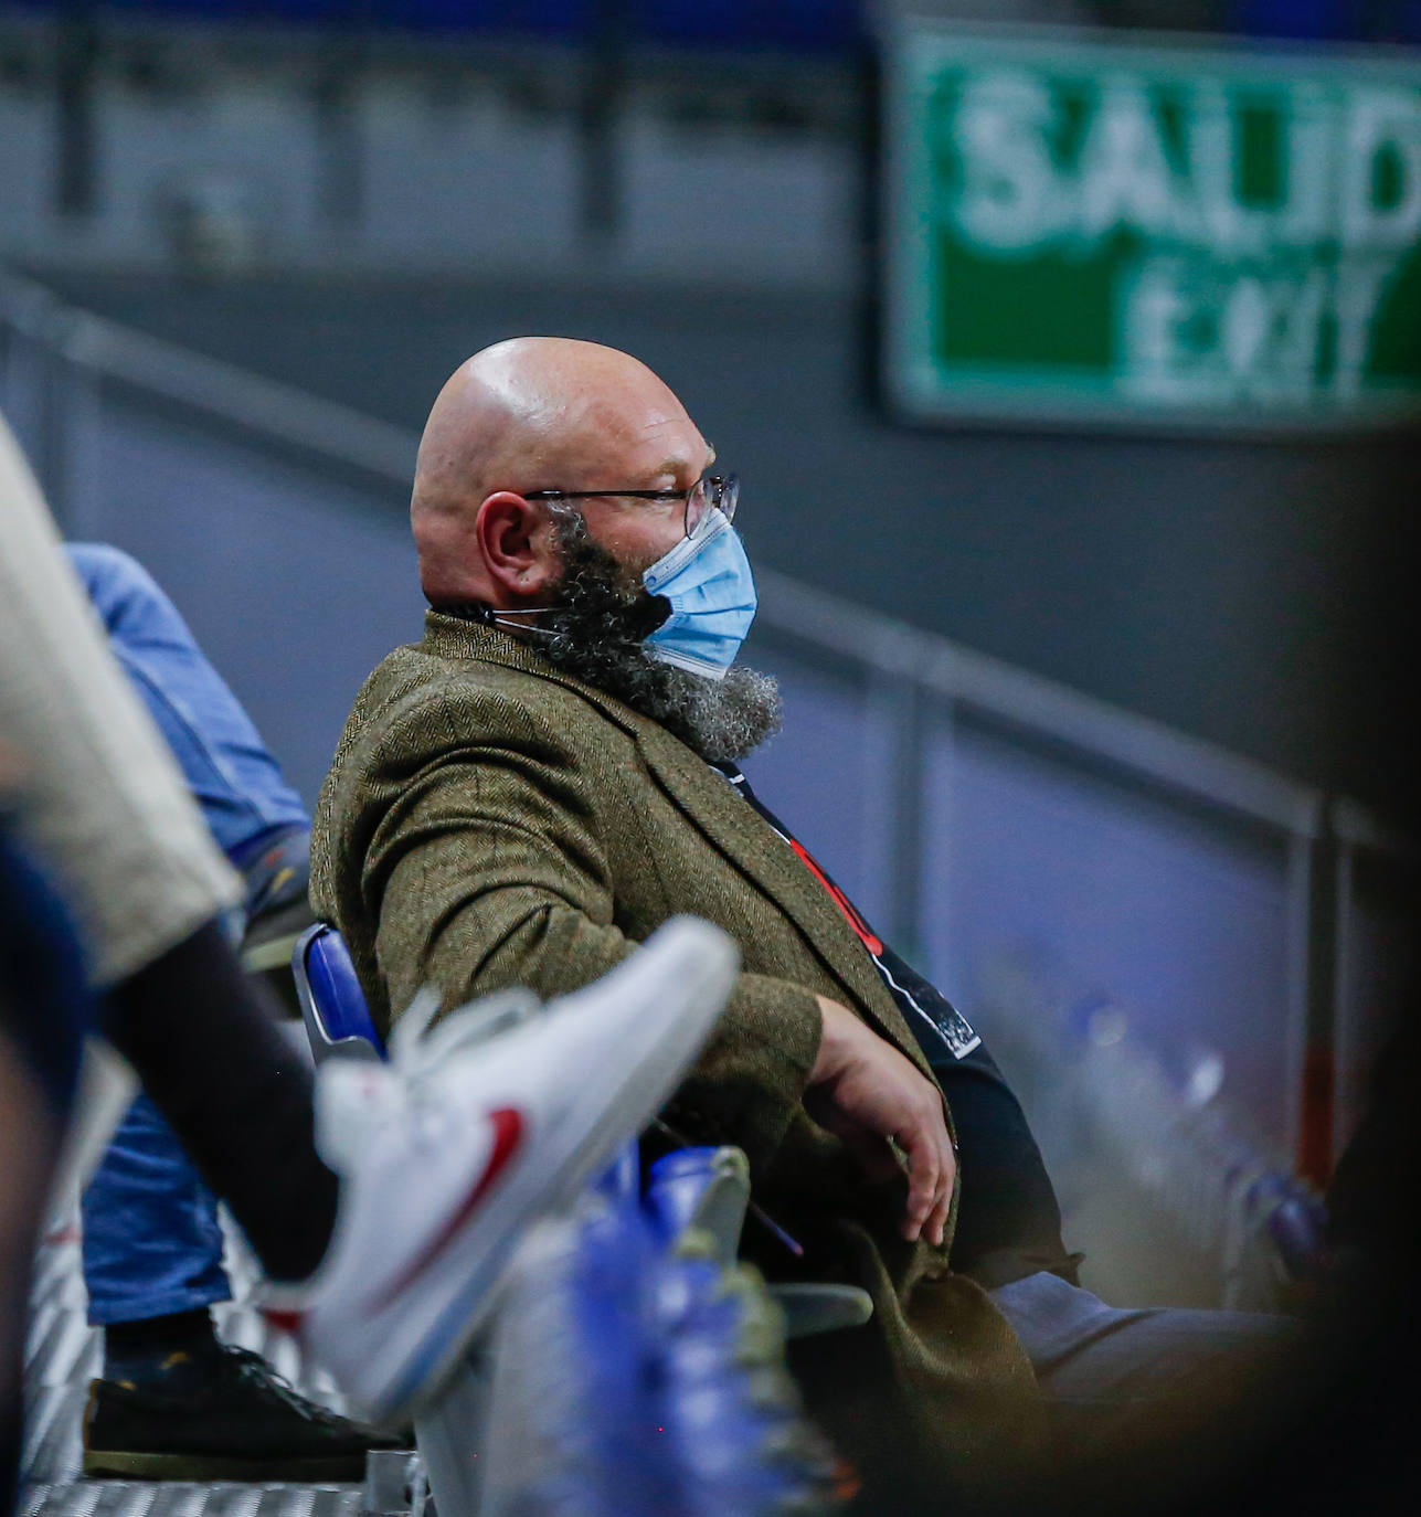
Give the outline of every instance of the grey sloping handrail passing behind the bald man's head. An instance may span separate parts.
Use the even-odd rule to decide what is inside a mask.
[[[70,306],[9,273],[0,273],[0,322],[91,375],[408,484],[419,440],[406,428]],[[1321,830],[1324,796],[1312,786],[789,575],[760,569],[757,579],[763,623],[781,636],[1291,836]],[[1365,812],[1347,801],[1345,815],[1356,822]]]

